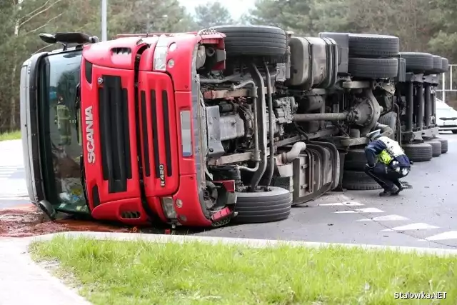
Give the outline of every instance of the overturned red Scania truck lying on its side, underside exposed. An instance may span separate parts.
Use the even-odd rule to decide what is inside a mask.
[[[286,219],[344,181],[378,188],[344,158],[357,164],[375,128],[401,136],[405,62],[398,38],[351,35],[273,26],[103,42],[41,34],[64,48],[21,70],[31,201],[51,215],[222,226]],[[433,124],[416,132],[437,133]]]

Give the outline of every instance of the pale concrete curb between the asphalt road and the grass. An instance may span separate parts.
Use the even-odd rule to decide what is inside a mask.
[[[55,236],[66,237],[86,237],[99,240],[118,240],[118,241],[150,241],[157,243],[177,242],[184,243],[189,241],[200,241],[208,244],[231,244],[251,246],[254,248],[266,248],[271,246],[299,246],[308,248],[325,248],[342,246],[346,248],[361,248],[366,250],[384,250],[398,251],[401,253],[416,253],[416,254],[433,254],[438,256],[455,256],[457,249],[440,249],[440,248],[425,248],[425,247],[407,247],[407,246],[380,246],[370,244],[338,244],[338,243],[319,243],[308,241],[281,241],[271,239],[237,239],[229,237],[212,237],[212,236],[184,236],[184,235],[162,235],[162,234],[132,234],[132,233],[111,233],[111,232],[59,232],[46,234],[41,236],[26,237],[31,241],[48,241]],[[1,239],[0,239],[1,240]]]

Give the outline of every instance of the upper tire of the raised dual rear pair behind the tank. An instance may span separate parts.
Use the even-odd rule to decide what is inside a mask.
[[[399,44],[396,36],[349,34],[349,56],[397,56]]]

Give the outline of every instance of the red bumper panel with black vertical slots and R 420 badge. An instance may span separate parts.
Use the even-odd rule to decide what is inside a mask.
[[[146,197],[174,194],[179,185],[179,145],[173,84],[168,75],[140,71],[139,125]]]

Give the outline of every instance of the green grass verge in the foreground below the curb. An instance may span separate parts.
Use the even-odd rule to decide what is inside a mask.
[[[456,304],[457,258],[332,247],[154,244],[56,237],[31,245],[58,260],[95,305]],[[446,299],[395,299],[396,292]],[[434,302],[434,303],[433,303]]]

